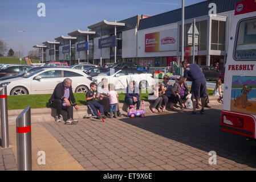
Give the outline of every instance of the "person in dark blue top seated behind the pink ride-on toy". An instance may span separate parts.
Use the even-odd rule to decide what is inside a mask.
[[[124,102],[129,105],[129,109],[131,109],[131,105],[136,104],[136,109],[140,109],[140,92],[139,88],[135,85],[135,81],[129,82],[129,85],[126,88],[126,94],[124,98]]]

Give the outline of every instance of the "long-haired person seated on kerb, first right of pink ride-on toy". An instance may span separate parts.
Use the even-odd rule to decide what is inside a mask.
[[[151,108],[151,111],[153,113],[156,113],[157,109],[159,111],[159,113],[161,113],[161,109],[160,106],[162,104],[162,84],[161,82],[159,82],[158,84],[156,84],[155,88],[153,89],[153,92],[149,94],[148,99],[153,101],[153,107]]]

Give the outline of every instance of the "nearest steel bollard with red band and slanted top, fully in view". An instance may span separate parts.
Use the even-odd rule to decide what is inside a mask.
[[[32,171],[31,111],[27,106],[16,118],[19,171]]]

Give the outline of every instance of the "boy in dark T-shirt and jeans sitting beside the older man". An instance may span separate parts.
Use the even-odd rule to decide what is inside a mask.
[[[92,110],[92,113],[94,115],[97,116],[98,119],[101,119],[101,118],[106,118],[105,115],[104,115],[104,110],[103,110],[103,106],[101,106],[99,104],[99,102],[97,102],[95,99],[96,97],[99,99],[100,96],[96,95],[96,88],[97,88],[97,85],[95,82],[91,82],[90,84],[90,90],[88,90],[88,92],[86,93],[86,100],[87,100],[87,104],[88,106],[91,108]],[[99,109],[99,113],[100,115],[97,113],[97,110],[96,108],[97,107]]]

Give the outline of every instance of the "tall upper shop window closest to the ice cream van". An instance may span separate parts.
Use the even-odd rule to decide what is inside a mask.
[[[226,22],[212,20],[212,50],[225,51]]]

